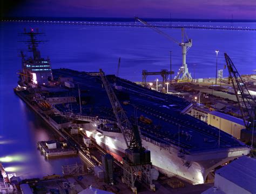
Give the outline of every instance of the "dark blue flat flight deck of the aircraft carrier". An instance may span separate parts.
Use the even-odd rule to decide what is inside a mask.
[[[72,76],[73,81],[79,83],[84,116],[116,121],[99,76],[90,76],[85,72],[70,69],[54,69],[53,75],[56,78],[60,75]],[[114,75],[107,76],[107,79],[112,85],[122,86],[122,90],[114,90],[121,104],[129,101],[129,104],[122,106],[131,122],[134,122],[134,110],[137,110],[137,118],[143,115],[152,121],[151,124],[139,121],[138,125],[143,136],[160,145],[180,146],[190,153],[246,147],[244,143],[223,131],[220,132],[219,147],[218,128],[183,113],[191,104],[183,98],[144,88]],[[69,95],[78,97],[77,86],[69,91]],[[80,113],[78,103],[58,104],[55,107],[64,113]]]

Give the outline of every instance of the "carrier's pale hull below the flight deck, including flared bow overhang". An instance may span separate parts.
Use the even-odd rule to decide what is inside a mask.
[[[106,152],[116,160],[122,161],[126,143],[121,133],[105,132],[89,124],[85,127],[85,133],[92,138]],[[166,176],[178,176],[192,184],[206,182],[207,175],[214,168],[233,160],[241,155],[248,154],[248,149],[233,152],[199,153],[197,155],[179,156],[175,147],[164,148],[156,145],[150,139],[142,140],[143,146],[151,152],[153,166]]]

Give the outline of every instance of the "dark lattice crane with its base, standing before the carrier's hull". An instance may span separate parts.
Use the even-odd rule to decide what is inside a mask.
[[[133,192],[137,193],[137,188],[134,186],[134,183],[136,178],[139,177],[141,181],[149,185],[150,188],[155,191],[151,177],[152,164],[150,151],[142,146],[138,126],[130,123],[130,120],[127,118],[123,107],[116,94],[114,94],[114,90],[102,69],[99,70],[99,74],[127,147],[127,149],[125,149],[125,157],[123,158],[124,176],[122,177],[122,181],[130,186]]]

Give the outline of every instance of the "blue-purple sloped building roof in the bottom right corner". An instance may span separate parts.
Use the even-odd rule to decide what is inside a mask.
[[[251,193],[256,193],[256,159],[242,156],[217,170],[216,174]]]

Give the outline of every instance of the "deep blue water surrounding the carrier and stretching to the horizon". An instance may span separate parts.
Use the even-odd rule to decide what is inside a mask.
[[[193,23],[196,25],[197,23]],[[181,64],[181,48],[145,27],[106,27],[82,25],[46,25],[0,23],[0,162],[9,172],[23,178],[60,174],[61,165],[79,162],[78,157],[45,160],[36,148],[36,142],[53,138],[44,122],[13,92],[17,85],[16,72],[21,69],[19,50],[26,50],[24,37],[18,35],[23,28],[36,28],[45,32],[40,45],[42,56],[49,56],[53,68],[71,68],[115,74],[121,57],[120,77],[131,81],[142,80],[142,70],[159,71],[170,68],[169,51],[172,51],[172,69],[177,73]],[[189,23],[188,23],[189,25]],[[200,25],[230,26],[230,23],[200,23]],[[233,26],[255,27],[255,23],[238,23]],[[181,32],[164,29],[180,40]],[[193,46],[187,54],[188,68],[196,77],[215,76],[215,49],[218,49],[218,69],[223,69],[227,52],[240,74],[252,74],[256,69],[256,32],[223,30],[186,30]],[[194,66],[192,66],[195,64]],[[192,68],[193,67],[193,68]],[[224,70],[227,76],[227,70]],[[148,77],[153,80],[157,77]],[[158,77],[160,78],[160,77]]]

